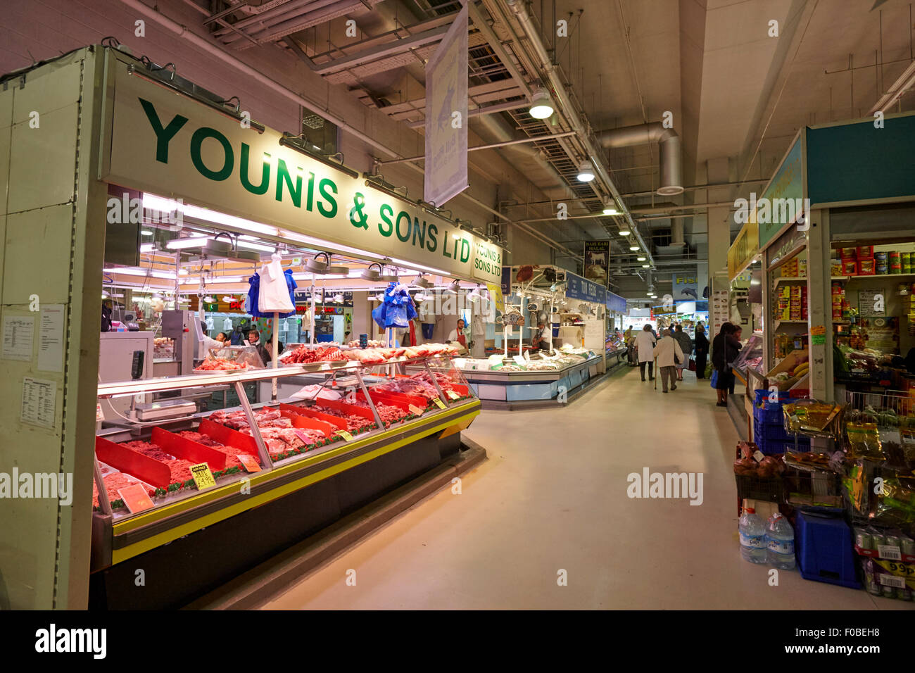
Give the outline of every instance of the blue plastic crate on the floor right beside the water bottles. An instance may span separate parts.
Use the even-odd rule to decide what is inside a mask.
[[[799,512],[794,546],[804,580],[861,588],[855,569],[852,530],[843,519]]]

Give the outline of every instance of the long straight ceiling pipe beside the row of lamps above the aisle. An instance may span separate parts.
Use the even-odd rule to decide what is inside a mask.
[[[608,168],[604,165],[604,152],[602,149],[598,150],[591,141],[591,135],[588,133],[587,128],[582,125],[582,121],[576,113],[576,107],[572,104],[568,93],[565,91],[565,83],[559,76],[558,69],[550,60],[550,56],[544,47],[544,42],[533,26],[533,21],[528,14],[527,8],[523,5],[522,0],[504,0],[504,2],[509,6],[511,12],[521,25],[524,37],[527,38],[527,44],[531,45],[536,52],[537,60],[540,61],[540,67],[546,72],[554,101],[558,103],[559,107],[564,111],[564,116],[568,120],[569,125],[577,132],[579,142],[581,142],[586,149],[587,157],[585,158],[587,158],[596,168],[597,177],[607,186],[608,190],[613,195],[613,198],[619,203],[619,207],[623,209],[623,216],[630,226],[630,231],[646,251],[648,264],[653,264],[653,260],[651,259],[651,248],[642,240],[635,223],[632,222],[632,216],[626,208],[626,204],[623,203],[622,198],[619,196],[619,190],[617,190],[616,185],[613,183],[613,179],[610,178]],[[565,138],[561,138],[557,140],[557,142],[562,143],[563,140],[565,140]],[[571,156],[574,157],[575,155]]]

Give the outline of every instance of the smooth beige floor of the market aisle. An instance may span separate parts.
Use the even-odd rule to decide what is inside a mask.
[[[737,433],[692,374],[662,395],[638,370],[566,408],[487,411],[489,460],[311,573],[267,609],[904,608],[740,559]],[[704,499],[630,499],[627,475],[702,472]],[[356,570],[356,585],[346,583]],[[557,572],[567,571],[567,586]]]

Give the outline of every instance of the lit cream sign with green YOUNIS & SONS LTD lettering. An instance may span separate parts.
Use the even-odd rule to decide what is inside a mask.
[[[114,56],[109,73],[100,179],[248,218],[255,228],[272,224],[449,276],[501,281],[500,247],[281,145],[278,131],[243,128],[132,75],[128,59]]]

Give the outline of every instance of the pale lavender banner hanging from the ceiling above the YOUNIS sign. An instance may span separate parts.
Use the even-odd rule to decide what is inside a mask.
[[[438,207],[467,181],[467,6],[425,64],[425,184],[423,198]]]

